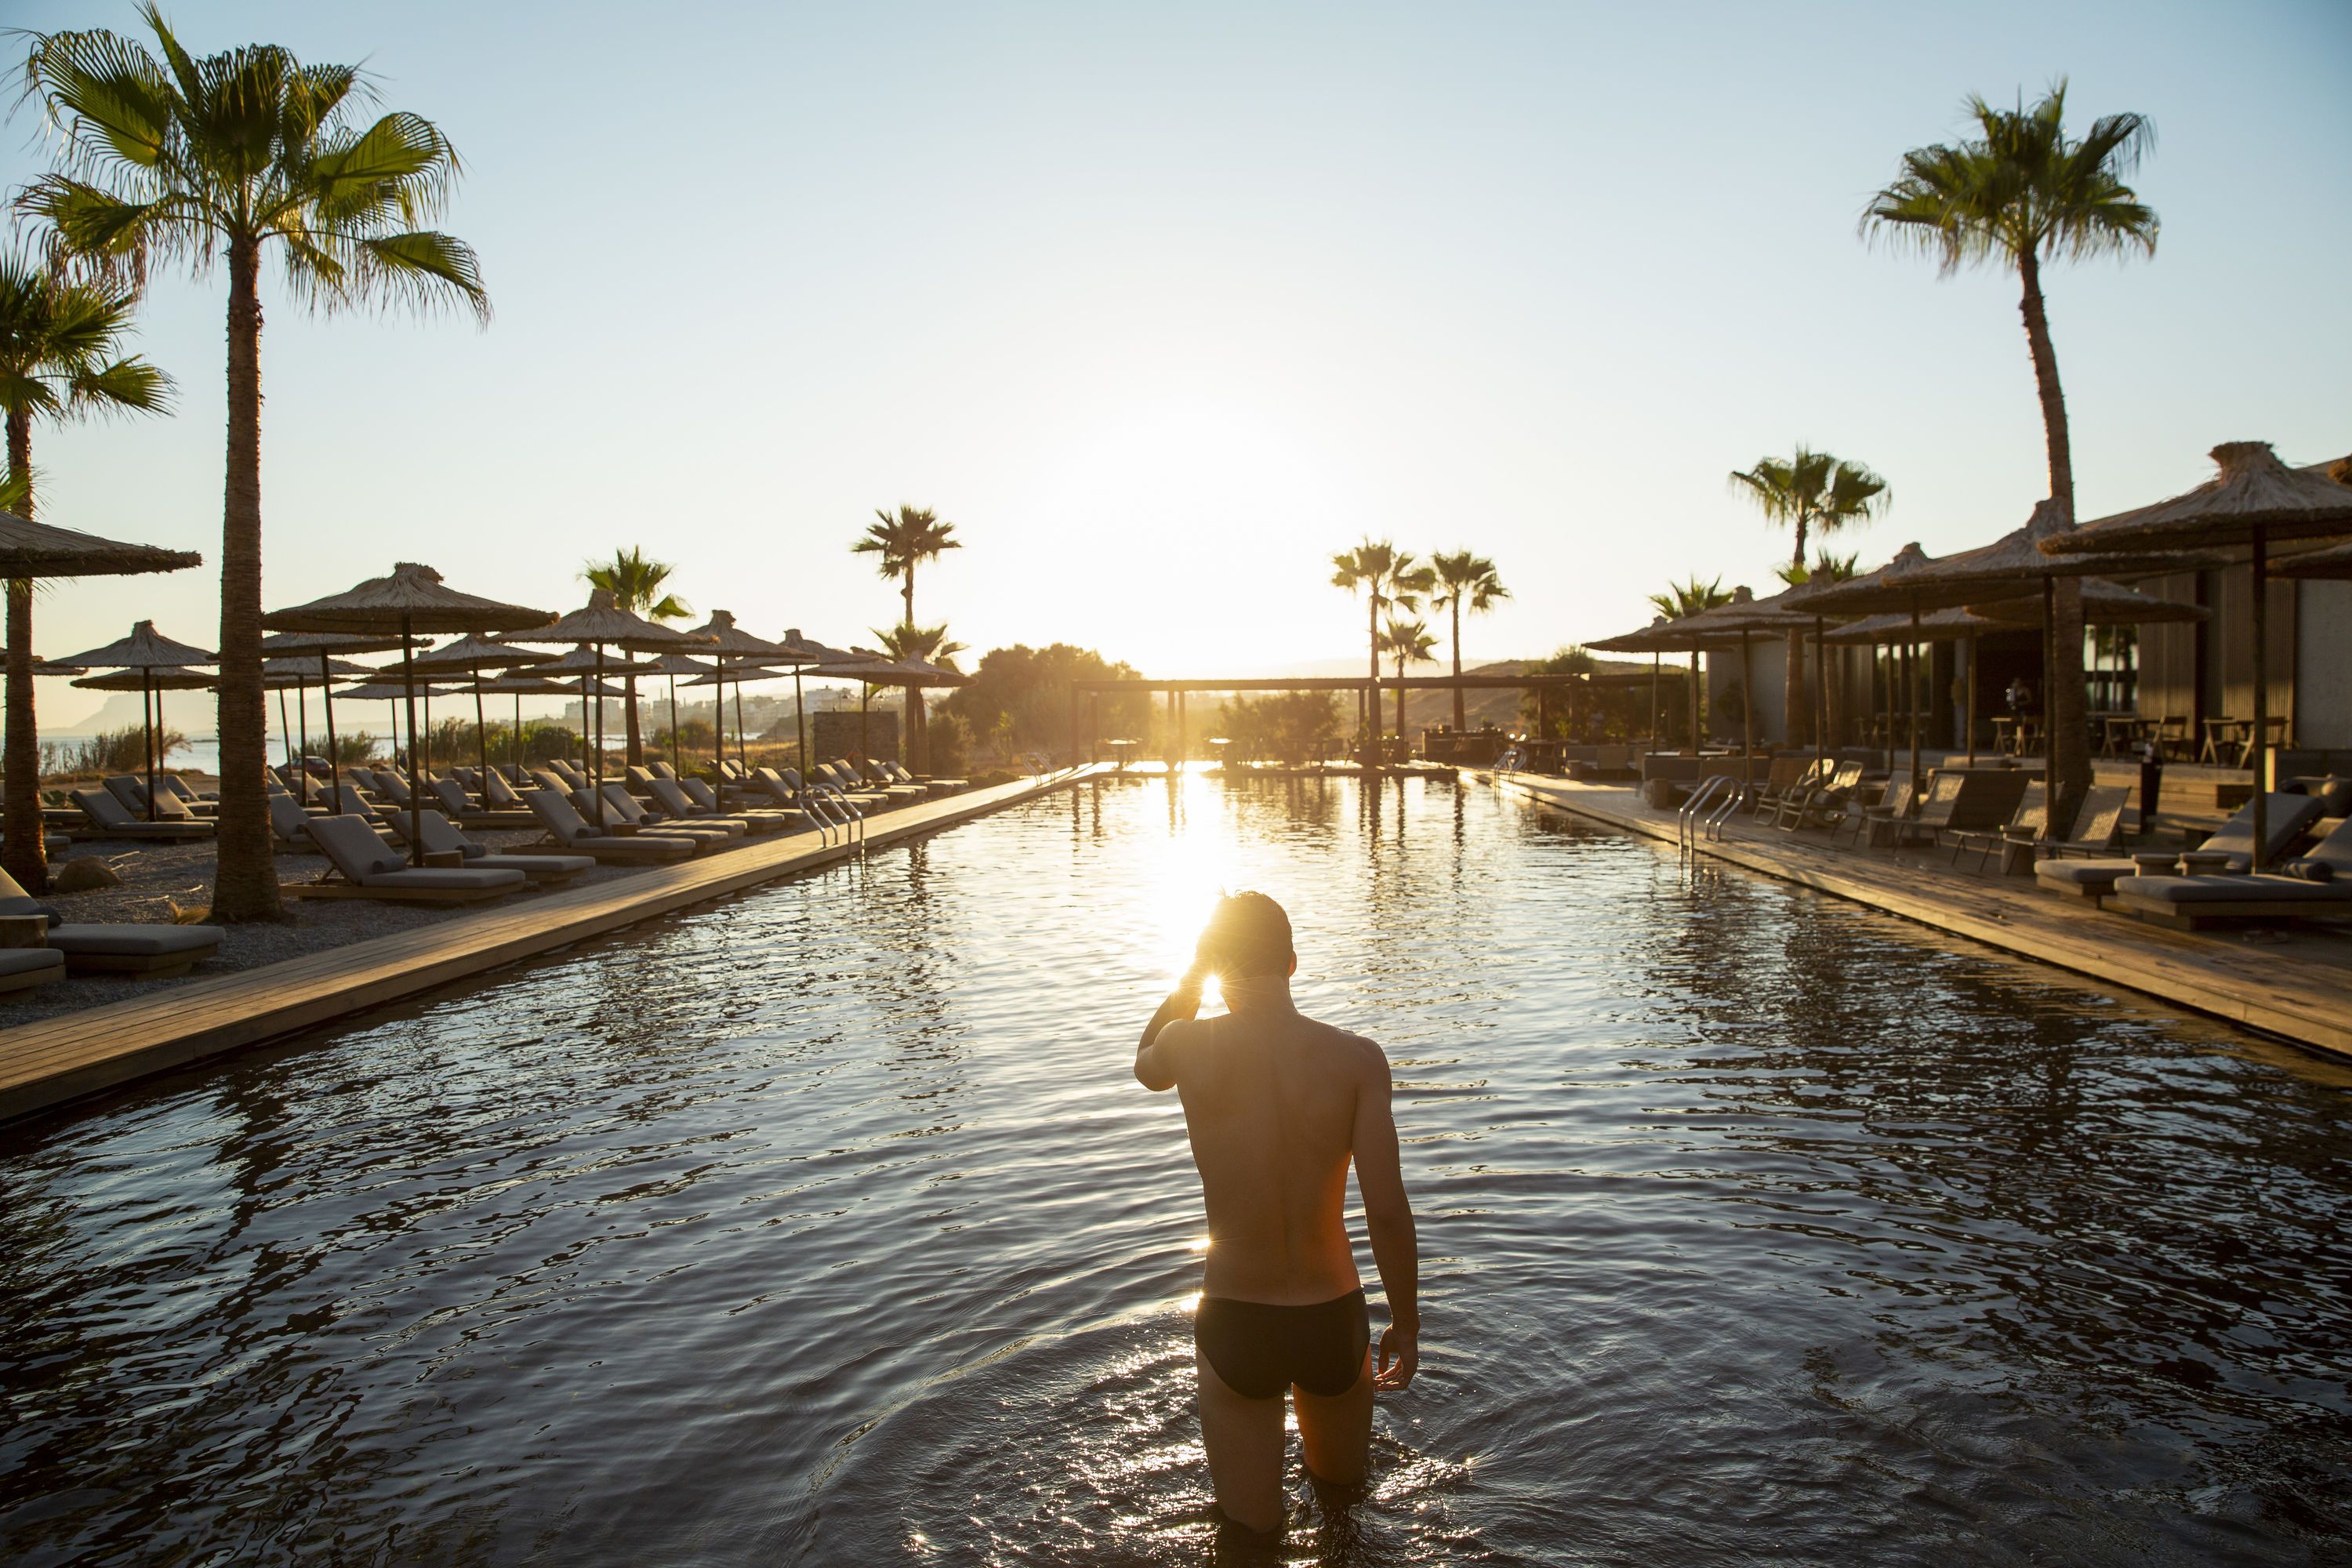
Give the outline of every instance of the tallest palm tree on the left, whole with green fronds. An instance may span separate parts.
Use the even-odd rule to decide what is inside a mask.
[[[282,919],[261,792],[261,261],[315,308],[461,303],[489,317],[468,244],[430,228],[459,174],[430,120],[360,122],[355,66],[275,45],[191,56],[153,0],[158,54],[103,28],[40,33],[28,92],[59,129],[59,167],[19,207],[61,254],[143,277],[228,259],[228,475],[221,508],[221,813],[212,914]]]

